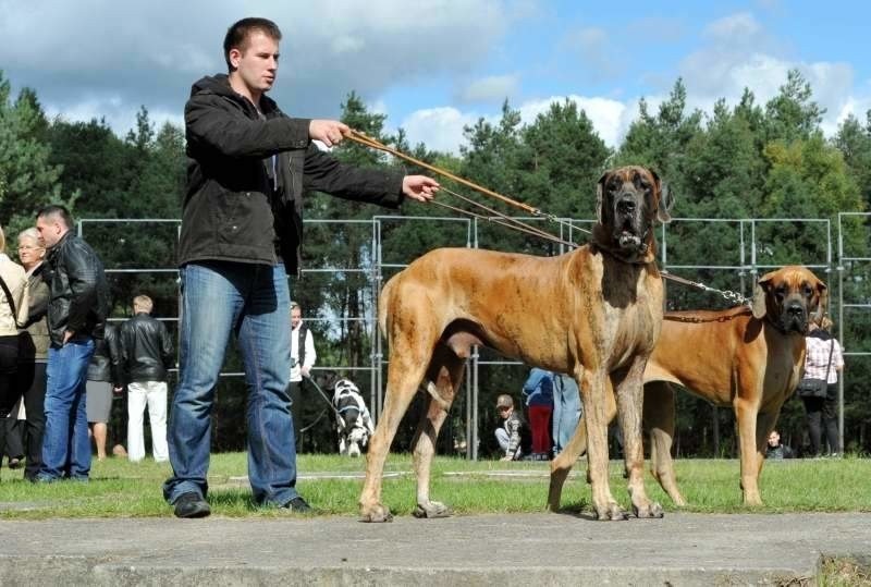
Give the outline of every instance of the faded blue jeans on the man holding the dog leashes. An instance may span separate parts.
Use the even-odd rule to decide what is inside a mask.
[[[296,443],[287,409],[291,294],[284,266],[230,261],[181,270],[179,388],[167,439],[173,476],[163,497],[206,497],[214,389],[231,332],[238,339],[248,388],[248,480],[258,503],[297,497]]]

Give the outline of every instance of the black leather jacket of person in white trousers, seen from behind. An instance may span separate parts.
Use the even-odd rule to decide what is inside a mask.
[[[165,381],[175,363],[167,326],[144,311],[121,325],[121,348],[126,382]]]

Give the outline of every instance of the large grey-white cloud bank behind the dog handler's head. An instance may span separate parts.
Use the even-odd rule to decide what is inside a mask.
[[[0,0],[0,63],[16,88],[33,87],[47,109],[69,117],[89,111],[93,96],[107,93],[132,114],[140,105],[181,112],[198,76],[225,71],[228,26],[260,14],[284,35],[275,99],[290,113],[335,117],[351,90],[369,99],[428,76],[470,75],[504,35],[512,19],[505,7],[505,0],[322,0],[304,10],[268,0]]]

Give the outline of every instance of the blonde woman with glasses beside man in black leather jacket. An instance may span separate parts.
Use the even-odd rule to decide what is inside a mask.
[[[39,232],[29,228],[19,234],[19,258],[27,277],[29,313],[26,330],[19,338],[19,372],[15,377],[19,393],[24,396],[26,415],[26,462],[24,478],[36,480],[42,464],[42,435],[46,430],[46,364],[48,362],[49,290],[44,279],[46,248],[39,242]]]

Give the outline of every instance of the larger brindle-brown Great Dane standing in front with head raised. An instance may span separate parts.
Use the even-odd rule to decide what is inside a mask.
[[[369,444],[359,501],[364,521],[391,518],[381,504],[384,460],[421,383],[429,405],[415,437],[415,515],[447,514],[443,504],[430,500],[430,462],[473,344],[574,375],[592,431],[596,514],[622,519],[625,514],[608,482],[610,378],[626,439],[633,509],[639,517],[662,515],[645,493],[640,412],[641,377],[662,322],[653,221],[667,221],[668,206],[667,192],[653,172],[621,168],[599,180],[599,222],[590,245],[560,257],[437,249],[390,280],[379,301],[381,330],[390,344],[387,399]]]

